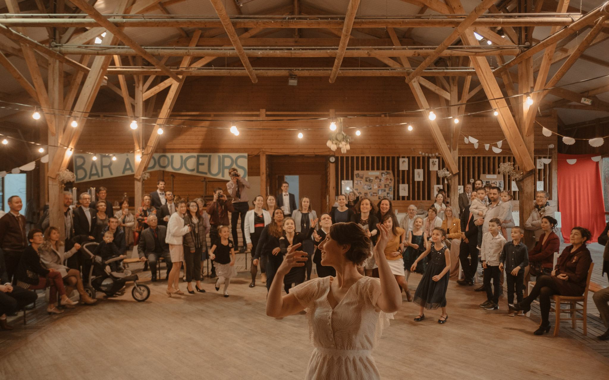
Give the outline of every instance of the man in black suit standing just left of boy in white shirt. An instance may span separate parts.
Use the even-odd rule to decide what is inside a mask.
[[[476,193],[473,193],[473,197],[475,196]],[[473,214],[469,207],[465,207],[461,215],[461,244],[459,246],[459,261],[461,261],[461,267],[463,268],[463,280],[457,281],[459,285],[474,285],[474,275],[476,275],[478,269],[477,240],[478,226],[474,224]],[[468,256],[471,257],[470,261],[467,260]]]

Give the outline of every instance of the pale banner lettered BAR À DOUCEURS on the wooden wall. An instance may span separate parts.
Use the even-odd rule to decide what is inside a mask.
[[[116,157],[113,160],[112,157]],[[74,159],[75,182],[94,181],[135,174],[133,153],[76,154]],[[96,160],[93,157],[97,157]],[[147,171],[166,170],[230,180],[228,170],[236,167],[247,178],[247,154],[245,153],[155,153]]]

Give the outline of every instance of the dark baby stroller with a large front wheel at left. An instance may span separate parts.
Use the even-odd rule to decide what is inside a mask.
[[[90,255],[93,260],[89,273],[89,282],[85,285],[85,291],[95,298],[95,292],[103,292],[107,297],[117,297],[125,294],[125,283],[133,281],[134,285],[131,291],[133,299],[137,302],[144,302],[150,297],[150,288],[147,285],[138,284],[138,275],[131,274],[131,271],[125,269],[124,272],[111,272],[108,264],[114,261],[122,260],[120,257],[113,257],[103,261],[100,256],[92,253],[99,243],[85,243],[82,246],[83,252]]]

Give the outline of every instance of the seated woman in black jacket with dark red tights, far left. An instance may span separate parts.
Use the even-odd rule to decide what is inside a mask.
[[[42,231],[32,229],[27,234],[27,240],[30,241],[30,246],[24,250],[19,261],[19,266],[15,277],[17,285],[28,290],[44,289],[49,286],[49,306],[46,308],[49,314],[61,314],[63,310],[55,307],[57,303],[57,293],[61,297],[61,305],[65,308],[74,308],[72,302],[66,294],[66,288],[63,286],[62,274],[55,271],[54,268],[46,269],[40,264],[40,256],[38,256],[38,247],[43,243],[44,237]],[[76,244],[78,249],[80,246]]]

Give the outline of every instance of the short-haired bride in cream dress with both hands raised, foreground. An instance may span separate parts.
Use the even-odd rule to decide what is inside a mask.
[[[306,252],[290,247],[269,289],[266,313],[286,317],[306,309],[309,338],[314,345],[306,379],[380,379],[371,350],[383,328],[400,309],[402,297],[384,249],[387,228],[380,232],[373,254],[379,277],[362,276],[357,267],[370,255],[370,240],[356,223],[336,223],[319,244],[322,265],[333,266],[336,277],[313,278],[281,295],[290,268],[305,265]]]

